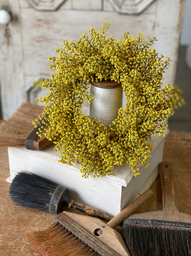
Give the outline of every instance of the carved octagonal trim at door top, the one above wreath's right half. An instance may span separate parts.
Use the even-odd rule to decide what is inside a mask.
[[[153,1],[154,0],[109,0],[116,12],[124,14],[139,14]]]

